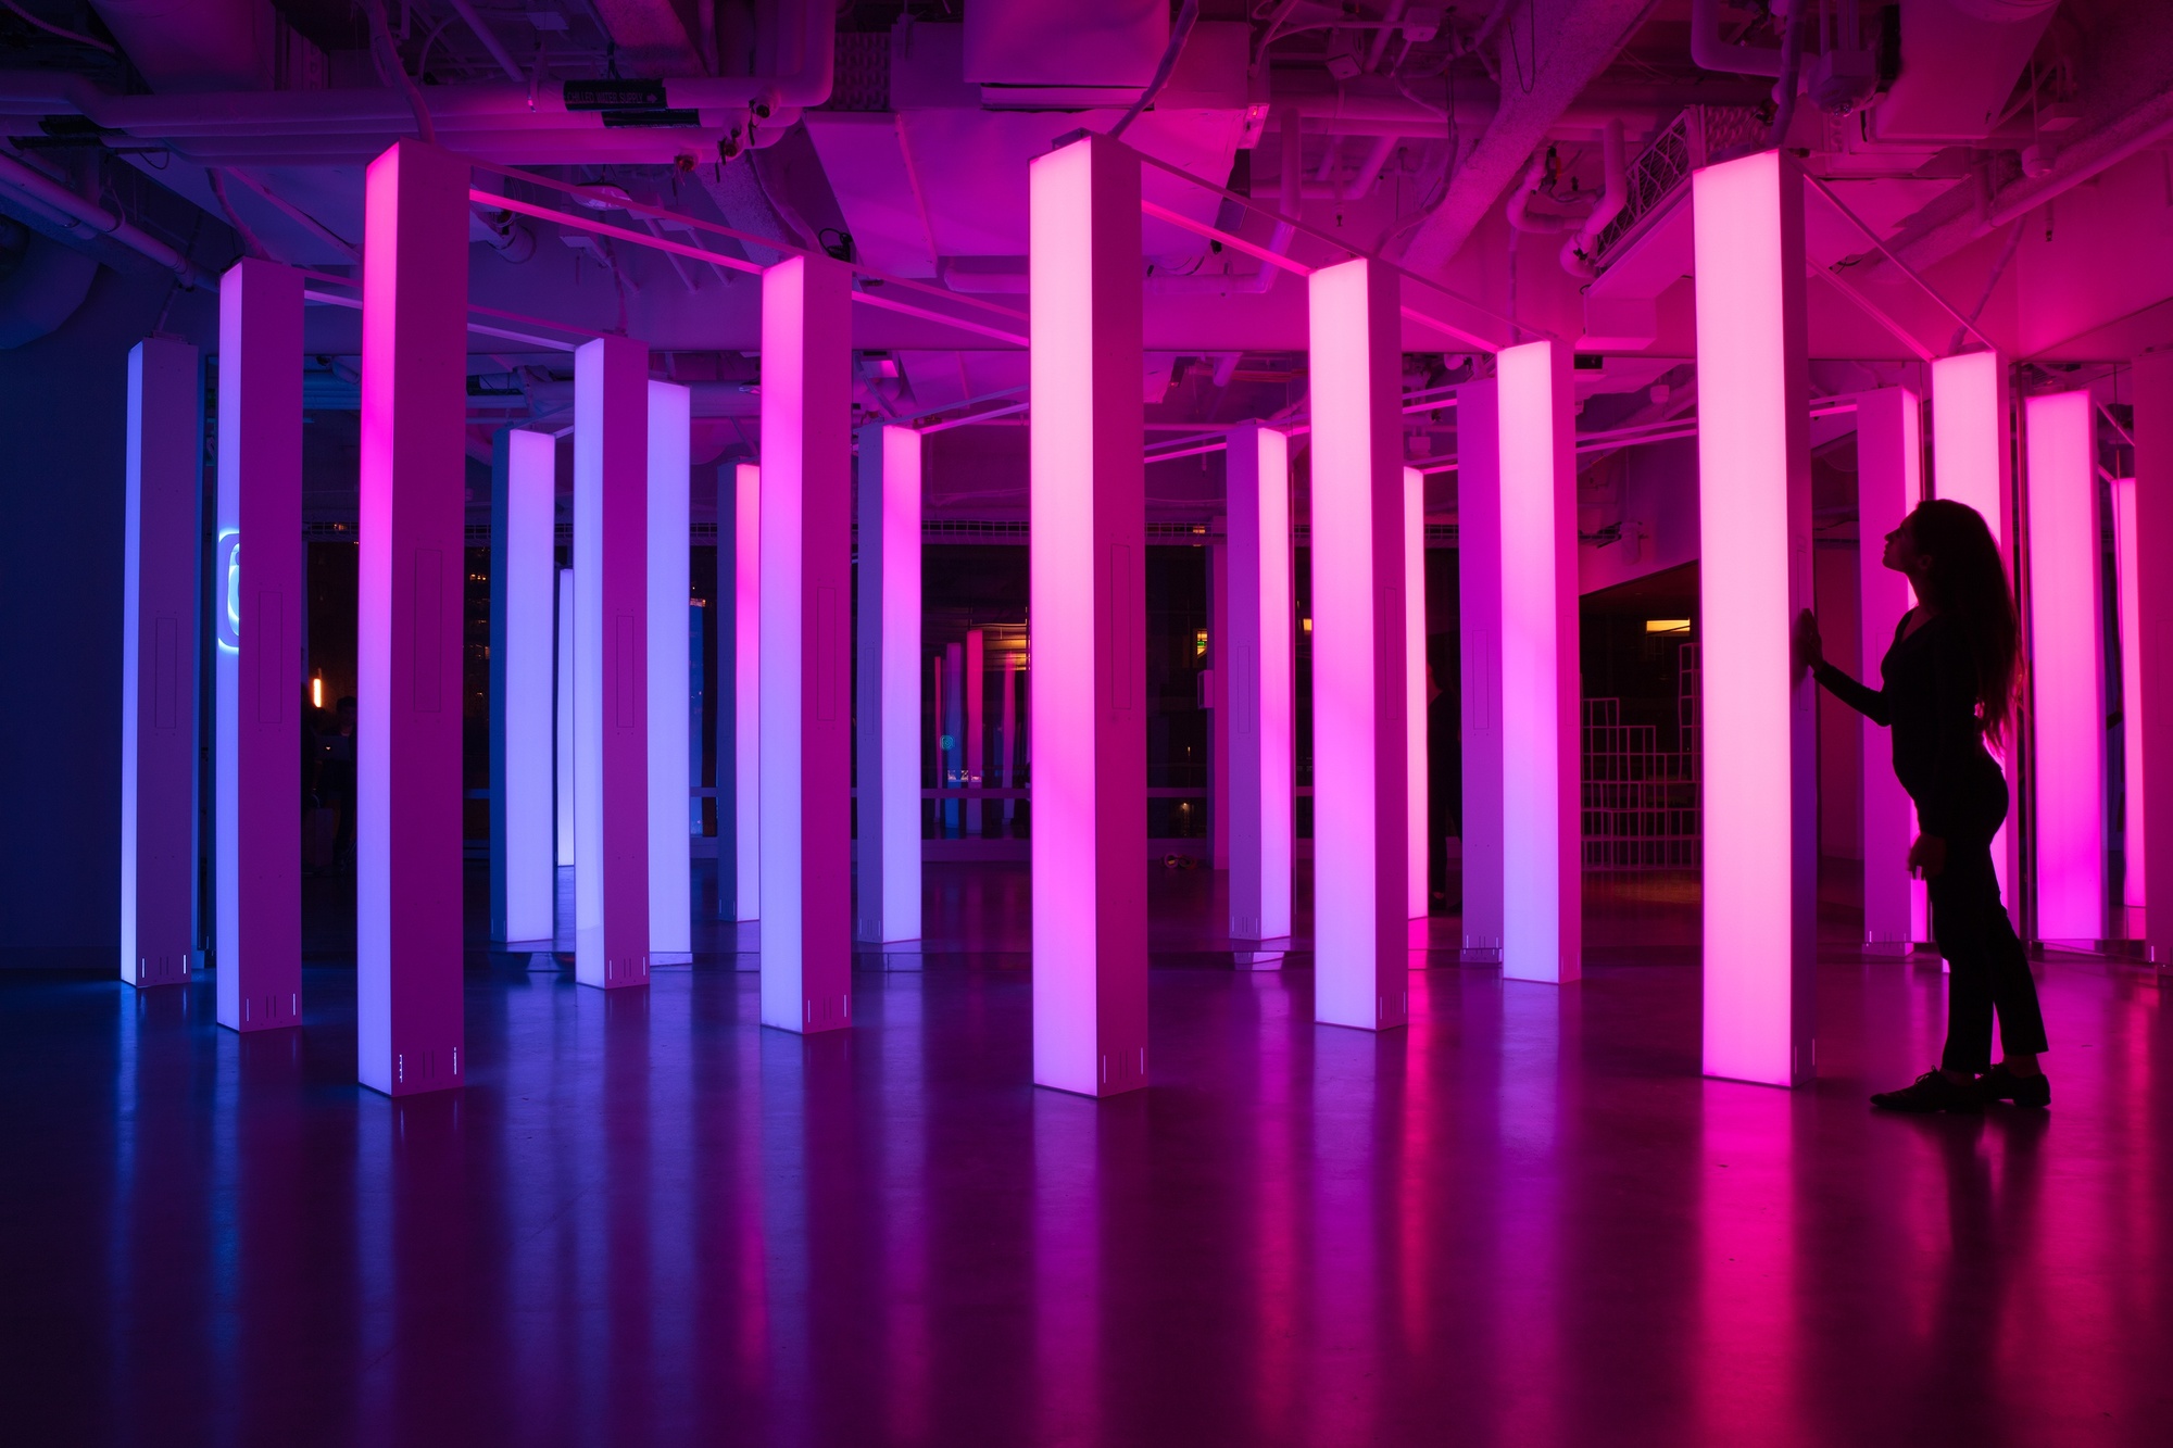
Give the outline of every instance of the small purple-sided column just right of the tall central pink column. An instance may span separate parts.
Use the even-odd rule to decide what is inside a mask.
[[[1230,428],[1228,596],[1215,672],[1230,717],[1230,935],[1291,933],[1291,439]],[[1280,965],[1280,952],[1247,952]]]

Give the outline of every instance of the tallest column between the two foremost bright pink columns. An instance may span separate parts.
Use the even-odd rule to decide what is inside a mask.
[[[1310,276],[1312,1015],[1408,1015],[1410,715],[1397,280],[1373,261]]]

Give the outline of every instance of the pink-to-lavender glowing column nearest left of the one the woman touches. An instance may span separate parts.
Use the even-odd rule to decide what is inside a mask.
[[[1569,348],[1495,359],[1502,467],[1502,974],[1569,983],[1584,959],[1578,702],[1578,439]]]

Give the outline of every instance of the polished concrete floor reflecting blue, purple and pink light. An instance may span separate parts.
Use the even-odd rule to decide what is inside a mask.
[[[2173,1441],[2153,972],[2040,965],[2053,1111],[1888,1118],[1936,961],[1836,948],[1786,1094],[1697,1074],[1693,881],[1373,1037],[1158,876],[1154,1087],[1089,1102],[1028,1085],[1023,889],[932,870],[815,1039],[730,928],[613,996],[476,952],[472,1083],[400,1104],[350,965],[248,1039],[0,978],[0,1441]]]

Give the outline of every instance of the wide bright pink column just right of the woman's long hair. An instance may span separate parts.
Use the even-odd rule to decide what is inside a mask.
[[[2097,591],[2097,407],[2023,404],[2030,465],[2030,731],[2036,757],[2036,935],[2106,931],[2106,611]]]

